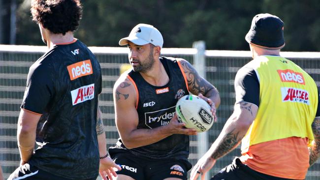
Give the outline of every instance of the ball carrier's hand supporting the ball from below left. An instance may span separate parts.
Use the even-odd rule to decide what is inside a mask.
[[[194,128],[186,128],[184,122],[179,122],[177,115],[174,114],[172,119],[167,124],[169,132],[172,134],[186,134],[186,135],[196,135],[197,132]]]

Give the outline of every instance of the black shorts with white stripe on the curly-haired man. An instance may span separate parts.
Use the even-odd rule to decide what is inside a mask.
[[[54,172],[53,172],[54,173]],[[30,164],[24,164],[18,167],[7,180],[70,180],[61,176],[57,176],[46,171],[40,170]],[[96,180],[96,178],[86,179]]]

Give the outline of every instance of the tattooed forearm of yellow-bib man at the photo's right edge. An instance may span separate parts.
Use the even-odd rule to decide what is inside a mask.
[[[315,140],[313,141],[312,146],[309,148],[310,166],[312,166],[320,157],[320,117],[316,117],[315,120],[312,122],[312,131],[313,131]]]

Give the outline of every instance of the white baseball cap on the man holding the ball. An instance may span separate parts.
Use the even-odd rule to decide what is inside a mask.
[[[147,24],[138,24],[135,26],[128,37],[122,38],[119,41],[120,46],[128,44],[128,41],[136,45],[153,44],[162,48],[163,38],[159,30]]]

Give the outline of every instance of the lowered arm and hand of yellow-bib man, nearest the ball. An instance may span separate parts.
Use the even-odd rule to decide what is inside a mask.
[[[191,171],[191,180],[202,177],[213,167],[216,160],[235,149],[246,135],[256,118],[258,107],[253,103],[239,102],[234,105],[234,112],[224,124],[224,128],[211,148],[198,160]]]

